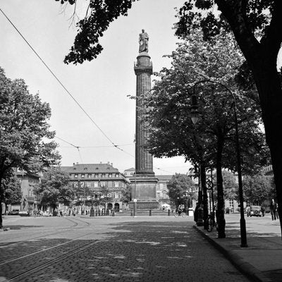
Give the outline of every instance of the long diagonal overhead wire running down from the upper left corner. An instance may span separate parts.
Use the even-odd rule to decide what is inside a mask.
[[[3,13],[4,17],[8,20],[9,23],[11,23],[11,25],[13,26],[13,28],[15,28],[15,30],[18,32],[18,34],[20,35],[20,37],[23,38],[23,40],[25,41],[25,43],[28,45],[28,47],[30,47],[30,49],[32,49],[32,51],[35,53],[35,55],[37,56],[37,58],[44,64],[44,66],[47,68],[47,70],[51,73],[51,75],[53,75],[53,77],[57,80],[57,82],[59,82],[59,84],[61,85],[61,87],[63,87],[63,89],[68,93],[68,95],[73,99],[73,101],[75,102],[75,104],[77,104],[80,109],[85,113],[85,115],[90,119],[90,121],[92,121],[92,123],[99,129],[99,131],[104,135],[104,137],[106,137],[107,140],[109,140],[109,142],[111,142],[111,144],[116,147],[116,149],[121,150],[122,152],[124,152],[125,154],[129,154],[130,156],[132,156],[132,154],[124,151],[123,149],[121,149],[120,147],[118,147],[118,145],[114,144],[114,142],[106,135],[106,133],[104,133],[104,131],[102,130],[102,128],[99,127],[99,125],[97,125],[97,123],[94,122],[94,120],[92,119],[92,117],[87,113],[87,111],[85,111],[85,109],[82,108],[82,106],[78,103],[78,101],[75,99],[75,97],[73,97],[73,95],[71,94],[71,92],[68,91],[68,89],[63,85],[63,83],[61,82],[61,80],[59,80],[59,78],[57,78],[57,76],[55,75],[55,73],[53,71],[51,71],[51,68],[49,68],[49,66],[47,66],[47,64],[43,61],[43,59],[39,56],[39,54],[37,53],[37,51],[35,51],[35,49],[30,45],[30,43],[27,41],[27,39],[25,39],[25,37],[21,34],[20,30],[18,30],[18,28],[16,27],[16,25],[14,25],[12,23],[12,21],[10,20],[10,18],[8,18],[8,16],[6,16],[6,14],[4,13],[4,11],[0,8],[1,13]],[[75,147],[75,146],[74,146]]]

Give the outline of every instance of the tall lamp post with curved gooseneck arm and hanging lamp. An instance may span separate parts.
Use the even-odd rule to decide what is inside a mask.
[[[212,81],[212,80],[200,80],[195,82],[193,85],[193,94],[192,94],[192,106],[190,117],[192,122],[195,124],[200,118],[200,113],[197,111],[197,97],[195,95],[195,86],[204,83],[214,83],[217,85],[221,85],[224,89],[227,90],[231,97],[233,98],[233,109],[234,109],[234,119],[235,119],[235,148],[236,148],[236,157],[237,157],[237,172],[238,172],[238,185],[239,185],[239,198],[240,198],[240,235],[241,235],[241,247],[247,247],[247,234],[246,234],[246,223],[244,218],[244,200],[243,200],[243,185],[242,185],[242,168],[241,168],[241,157],[240,157],[240,145],[239,145],[239,133],[238,133],[238,116],[237,116],[237,102],[236,97],[231,90],[229,90],[226,85],[223,85],[220,82]]]

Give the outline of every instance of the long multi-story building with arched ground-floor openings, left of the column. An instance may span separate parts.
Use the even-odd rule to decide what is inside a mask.
[[[75,188],[80,202],[94,202],[95,208],[99,208],[97,200],[110,199],[104,204],[104,209],[115,210],[128,209],[128,204],[121,201],[121,190],[127,188],[130,181],[120,173],[113,164],[73,164],[73,166],[61,166],[71,177],[71,185]],[[99,201],[98,201],[99,202]],[[90,207],[84,204],[81,211],[87,211]]]

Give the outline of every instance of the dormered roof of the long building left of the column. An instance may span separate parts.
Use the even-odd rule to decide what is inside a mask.
[[[112,164],[73,164],[73,166],[61,166],[62,171],[68,173],[119,173],[118,168]]]

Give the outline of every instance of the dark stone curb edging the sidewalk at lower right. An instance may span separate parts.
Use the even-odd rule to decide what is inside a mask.
[[[240,257],[236,252],[233,250],[226,250],[226,248],[222,247],[219,243],[217,243],[213,238],[209,237],[204,231],[198,228],[196,225],[193,226],[201,235],[212,243],[212,245],[219,250],[237,269],[239,269],[247,278],[250,278],[251,281],[255,282],[272,282],[272,280],[264,274],[262,271],[259,271],[255,266],[248,263]],[[223,239],[224,240],[224,239]]]

